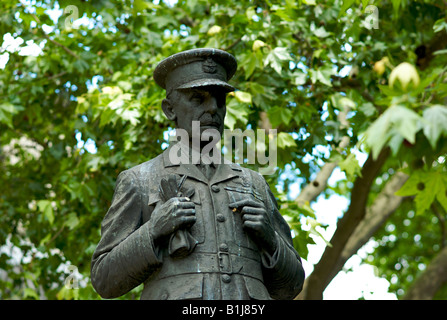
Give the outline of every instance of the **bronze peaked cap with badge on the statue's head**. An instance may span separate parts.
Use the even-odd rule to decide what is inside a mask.
[[[237,62],[230,53],[211,48],[176,53],[161,61],[154,70],[155,82],[169,93],[173,89],[220,86],[227,92],[235,88],[228,81]]]

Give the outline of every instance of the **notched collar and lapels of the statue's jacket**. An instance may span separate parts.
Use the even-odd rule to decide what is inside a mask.
[[[211,180],[208,181],[202,171],[200,171],[200,169],[197,167],[197,164],[192,163],[192,159],[200,159],[200,153],[192,148],[182,148],[180,163],[173,163],[170,159],[169,153],[176,152],[178,150],[178,148],[172,150],[172,147],[174,145],[175,144],[171,144],[163,152],[163,166],[165,170],[178,175],[187,175],[189,178],[201,181],[209,185],[243,175],[242,168],[239,165],[232,163],[231,161],[228,161],[223,156],[221,156],[221,163],[215,164],[216,172]]]

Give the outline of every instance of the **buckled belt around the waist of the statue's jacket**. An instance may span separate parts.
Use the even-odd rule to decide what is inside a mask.
[[[240,274],[263,281],[261,261],[230,252],[193,252],[186,258],[166,257],[157,278],[189,273]]]

